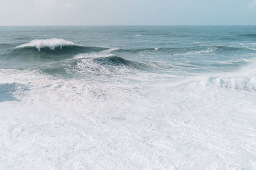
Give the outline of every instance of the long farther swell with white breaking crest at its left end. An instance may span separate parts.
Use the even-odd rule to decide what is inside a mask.
[[[214,52],[255,52],[255,50],[246,47],[236,46],[196,45],[176,48],[103,48],[97,46],[76,45],[75,43],[66,41],[64,39],[46,40],[36,39],[29,43],[16,46],[13,48],[13,50],[11,50],[10,53],[6,53],[6,55],[10,55],[11,57],[22,57],[23,59],[31,59],[33,57],[36,59],[67,59],[74,57],[74,55],[83,53],[110,53],[113,51],[115,51],[115,54],[118,55],[120,55],[120,53],[124,53],[125,55],[129,55],[129,53],[165,53],[168,55],[191,55]]]

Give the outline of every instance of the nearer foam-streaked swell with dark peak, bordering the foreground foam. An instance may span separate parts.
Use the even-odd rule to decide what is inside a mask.
[[[127,73],[132,71],[154,70],[150,63],[127,60],[116,55],[108,57],[86,57],[74,58],[55,62],[49,66],[39,68],[47,74],[58,74],[60,76],[86,76],[88,74],[106,75]]]

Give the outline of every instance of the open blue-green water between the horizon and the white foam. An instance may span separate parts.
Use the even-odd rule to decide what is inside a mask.
[[[255,30],[254,26],[0,27],[0,67],[64,75],[84,60],[74,59],[77,55],[90,55],[88,60],[109,69],[118,65],[170,74],[232,71],[253,58]],[[51,38],[56,39],[40,46],[42,39]],[[33,40],[40,51],[33,43],[15,48]],[[51,43],[54,49],[49,48]]]

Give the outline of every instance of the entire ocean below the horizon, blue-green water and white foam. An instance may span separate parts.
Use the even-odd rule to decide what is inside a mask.
[[[0,169],[255,169],[255,26],[0,27]]]

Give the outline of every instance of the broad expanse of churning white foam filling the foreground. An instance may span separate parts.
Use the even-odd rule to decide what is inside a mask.
[[[253,167],[255,93],[164,76],[0,69],[1,169]]]

